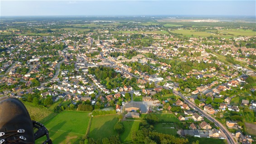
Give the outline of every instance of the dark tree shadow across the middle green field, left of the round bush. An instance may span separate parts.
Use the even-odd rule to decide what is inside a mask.
[[[117,135],[117,132],[114,130],[114,126],[116,125],[117,121],[117,118],[106,121],[101,127],[94,128],[92,131],[90,131],[89,137],[93,139],[103,139],[112,135]]]

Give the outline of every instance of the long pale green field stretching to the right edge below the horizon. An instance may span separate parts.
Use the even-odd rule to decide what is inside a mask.
[[[191,37],[193,34],[193,37],[222,37],[222,38],[231,38],[231,37],[237,37],[237,36],[255,36],[256,33],[252,30],[242,30],[242,29],[231,29],[231,30],[218,30],[219,34],[213,34],[216,32],[216,30],[208,30],[204,32],[195,32],[194,30],[188,30],[188,29],[176,29],[174,31],[171,31],[176,34],[183,34],[184,36]]]

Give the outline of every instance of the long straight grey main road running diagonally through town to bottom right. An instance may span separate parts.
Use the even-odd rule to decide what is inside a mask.
[[[106,59],[108,62],[110,62],[111,64],[113,64],[113,65],[116,66],[116,64],[115,64],[114,62],[109,61],[107,58],[105,58],[105,57],[103,56],[102,53],[100,53],[100,54],[101,54],[101,57],[102,57],[103,59]],[[116,66],[116,67],[119,67],[119,66]],[[121,67],[119,67],[119,68],[121,68]],[[121,69],[122,69],[124,72],[127,72],[125,69],[123,69],[123,68],[121,68]],[[127,72],[127,73],[130,74],[130,75],[133,76],[133,77],[140,78],[140,77],[137,77],[137,76],[135,76],[134,74],[132,74],[132,73],[130,73],[130,72]],[[169,88],[166,88],[166,87],[164,87],[164,86],[159,86],[159,85],[157,85],[157,84],[155,84],[155,86],[163,87],[163,88],[165,88],[165,89],[169,89]],[[232,134],[231,134],[231,133],[227,130],[227,128],[226,128],[225,126],[223,126],[219,121],[217,121],[216,119],[214,119],[211,115],[209,115],[209,114],[206,113],[205,111],[201,110],[201,109],[200,109],[199,107],[197,107],[193,102],[188,101],[188,99],[186,99],[186,97],[183,96],[180,92],[174,91],[173,93],[174,93],[175,95],[180,96],[180,97],[188,104],[188,106],[190,106],[191,108],[193,108],[193,109],[195,109],[195,110],[198,110],[198,111],[199,111],[201,114],[203,114],[208,120],[211,120],[212,122],[214,122],[215,125],[216,125],[217,127],[219,127],[220,130],[223,132],[225,138],[227,139],[227,143],[228,143],[228,144],[236,144],[235,140],[234,140],[233,137],[232,137]]]

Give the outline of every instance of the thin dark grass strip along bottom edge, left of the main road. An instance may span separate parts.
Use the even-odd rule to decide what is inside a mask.
[[[189,137],[187,138],[189,141],[189,144],[192,144],[192,142],[199,141],[199,144],[225,144],[224,141],[226,139],[214,139],[214,138],[197,138],[197,137]]]

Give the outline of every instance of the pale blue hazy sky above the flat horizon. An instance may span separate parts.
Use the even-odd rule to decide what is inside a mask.
[[[256,15],[256,0],[0,0],[1,16]]]

